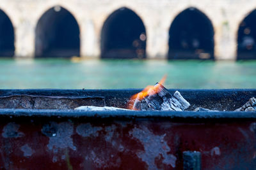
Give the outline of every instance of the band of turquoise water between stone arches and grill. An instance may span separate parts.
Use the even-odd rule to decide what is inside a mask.
[[[256,61],[1,59],[0,89],[256,88]]]

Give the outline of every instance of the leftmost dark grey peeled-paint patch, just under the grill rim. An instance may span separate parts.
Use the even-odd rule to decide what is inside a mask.
[[[20,138],[24,136],[24,133],[19,132],[19,128],[20,125],[10,122],[4,126],[2,136],[4,138]]]

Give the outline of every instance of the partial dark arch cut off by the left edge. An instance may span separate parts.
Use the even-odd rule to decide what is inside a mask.
[[[12,22],[4,11],[0,10],[0,57],[13,57],[14,50]]]

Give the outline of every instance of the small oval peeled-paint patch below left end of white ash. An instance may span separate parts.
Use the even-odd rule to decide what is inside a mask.
[[[89,137],[89,136],[94,136],[97,137],[99,136],[99,132],[102,130],[102,127],[92,127],[91,124],[80,124],[77,125],[76,127],[76,132],[77,134],[83,136],[83,137]]]

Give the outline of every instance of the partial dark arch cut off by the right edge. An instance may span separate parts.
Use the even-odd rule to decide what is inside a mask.
[[[239,25],[237,59],[256,59],[256,10],[245,17]]]

